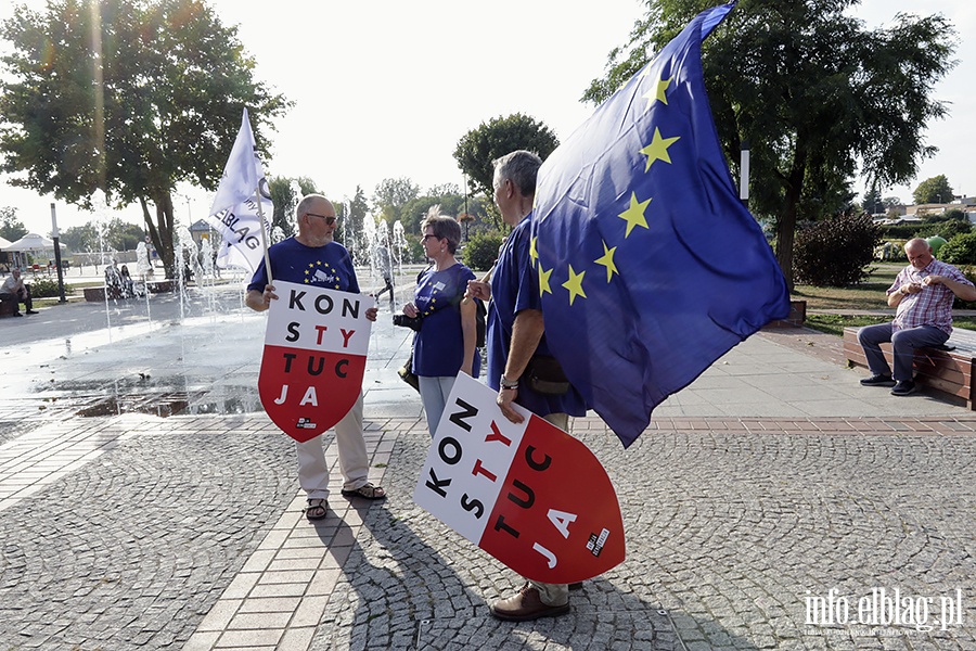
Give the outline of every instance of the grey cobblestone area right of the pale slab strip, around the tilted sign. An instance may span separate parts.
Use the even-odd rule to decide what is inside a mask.
[[[311,648],[974,649],[974,430],[665,419],[624,450],[576,420],[618,492],[628,558],[572,595],[570,616],[512,625],[485,603],[517,577],[407,498],[427,443],[412,427],[386,473],[396,497],[368,513]],[[932,599],[928,624],[961,590],[964,624],[855,625],[874,588]],[[807,625],[808,599],[831,590],[851,623]]]

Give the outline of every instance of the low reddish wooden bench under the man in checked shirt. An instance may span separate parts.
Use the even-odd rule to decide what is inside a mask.
[[[858,330],[860,328],[844,329],[844,355],[848,366],[868,368],[868,358],[858,343]],[[915,349],[915,381],[976,410],[976,395],[973,393],[976,332],[955,328],[946,347],[951,349]],[[894,366],[891,344],[882,344],[882,350],[888,365]]]

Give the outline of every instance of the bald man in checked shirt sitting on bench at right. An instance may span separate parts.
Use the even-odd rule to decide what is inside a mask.
[[[904,245],[909,263],[898,272],[888,288],[888,307],[895,307],[890,323],[865,326],[858,332],[858,343],[864,349],[871,376],[861,380],[864,386],[894,386],[891,395],[908,396],[917,391],[912,376],[915,348],[941,346],[952,334],[952,302],[976,301],[976,288],[962,271],[941,263],[932,254],[932,246],[921,238]],[[882,353],[879,344],[891,342],[895,353],[895,374]]]

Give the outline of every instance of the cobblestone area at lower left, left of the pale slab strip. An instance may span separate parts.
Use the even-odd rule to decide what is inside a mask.
[[[293,498],[266,419],[145,419],[0,511],[0,649],[180,649]]]

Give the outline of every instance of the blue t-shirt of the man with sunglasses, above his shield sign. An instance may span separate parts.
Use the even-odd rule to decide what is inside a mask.
[[[346,247],[336,242],[325,246],[306,246],[295,238],[282,240],[268,248],[274,280],[359,293],[359,281],[352,268],[352,258]],[[247,290],[264,292],[268,284],[265,259],[258,265]]]

